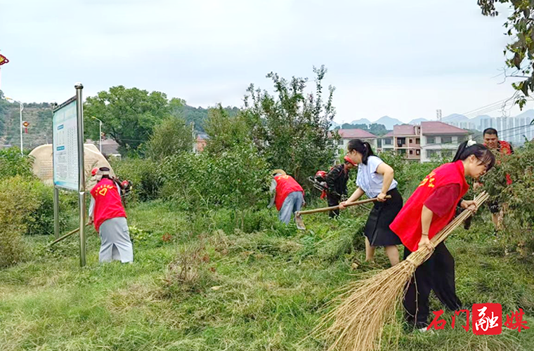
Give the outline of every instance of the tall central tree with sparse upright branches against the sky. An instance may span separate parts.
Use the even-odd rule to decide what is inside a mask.
[[[275,168],[284,168],[302,185],[306,177],[332,164],[337,151],[329,138],[335,116],[334,88],[323,100],[324,66],[313,67],[315,95],[306,93],[308,79],[284,79],[271,72],[276,96],[249,86],[245,95],[245,120],[260,152]]]

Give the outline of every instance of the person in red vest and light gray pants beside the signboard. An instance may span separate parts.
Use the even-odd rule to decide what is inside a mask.
[[[98,183],[91,189],[89,224],[94,223],[100,234],[100,263],[112,260],[131,263],[133,246],[122,206],[120,185],[110,177],[108,167],[99,168],[93,176],[97,177]]]

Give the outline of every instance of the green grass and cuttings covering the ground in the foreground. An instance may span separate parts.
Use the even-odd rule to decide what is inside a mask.
[[[363,237],[350,252],[363,223],[358,218],[310,216],[311,230],[282,234],[199,231],[183,213],[157,203],[130,209],[129,218],[137,228],[132,265],[99,265],[93,230],[84,269],[74,238],[51,250],[44,249],[50,237],[26,238],[32,260],[0,271],[2,351],[325,350],[325,340],[306,338],[321,309],[337,289],[376,267],[351,268],[365,257]],[[477,224],[447,241],[460,298],[501,303],[504,313],[522,307],[534,324],[532,262],[495,255],[499,244]],[[193,256],[184,274],[185,258]],[[382,251],[377,265],[387,267]],[[431,301],[431,310],[441,308]],[[383,350],[533,350],[530,329],[473,336],[451,330],[445,315],[445,330],[434,334],[387,326],[391,339]]]

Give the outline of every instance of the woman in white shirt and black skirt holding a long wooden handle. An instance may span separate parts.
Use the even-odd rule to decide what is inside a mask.
[[[389,225],[403,208],[403,198],[397,190],[393,168],[376,157],[367,142],[353,139],[347,149],[347,156],[358,166],[358,189],[347,201],[339,204],[339,209],[342,210],[346,204],[357,201],[363,194],[369,198],[376,197],[378,201],[375,202],[365,224],[365,260],[372,261],[375,258],[375,248],[384,246],[389,262],[392,266],[396,265],[399,262],[397,245],[401,244],[401,239],[389,229]],[[391,195],[391,199],[386,199],[387,195]]]

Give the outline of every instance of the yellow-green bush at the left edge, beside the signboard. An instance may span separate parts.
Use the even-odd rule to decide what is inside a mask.
[[[36,180],[15,176],[0,180],[0,267],[22,260],[25,252],[22,234],[27,232],[32,214],[39,208]]]

